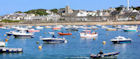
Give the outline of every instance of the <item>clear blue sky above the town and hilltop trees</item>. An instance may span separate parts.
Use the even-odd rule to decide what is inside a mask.
[[[101,10],[120,5],[127,6],[127,0],[0,0],[0,15],[39,8],[59,9],[66,5],[75,10]],[[130,0],[130,6],[140,6],[140,0]]]

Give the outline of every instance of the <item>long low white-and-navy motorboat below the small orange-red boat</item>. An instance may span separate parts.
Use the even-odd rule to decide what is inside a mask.
[[[65,38],[41,38],[43,42],[55,44],[55,43],[67,43],[67,40]]]

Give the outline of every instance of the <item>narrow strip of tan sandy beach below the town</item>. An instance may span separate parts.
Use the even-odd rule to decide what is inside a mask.
[[[47,25],[138,25],[140,21],[121,21],[121,22],[73,22],[73,23],[38,23],[38,24],[19,24],[19,23],[0,23],[3,26],[12,25],[30,25],[30,26],[47,26]]]

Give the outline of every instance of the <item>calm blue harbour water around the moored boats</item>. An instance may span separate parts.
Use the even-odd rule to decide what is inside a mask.
[[[112,27],[112,26],[108,26]],[[96,32],[99,36],[96,40],[82,39],[80,38],[79,31],[71,31],[70,36],[59,36],[57,32],[67,32],[64,28],[60,31],[54,31],[52,29],[43,29],[39,33],[35,33],[35,37],[32,39],[15,39],[10,37],[8,46],[11,48],[23,48],[23,53],[20,54],[0,54],[0,59],[90,59],[91,53],[97,54],[100,50],[104,53],[119,51],[120,54],[117,59],[140,59],[140,32],[124,32],[118,31],[106,31],[98,26]],[[0,29],[0,40],[4,40],[6,32],[11,31]],[[44,44],[40,40],[42,37],[51,37],[48,32],[55,32],[57,37],[65,37],[68,42],[62,44]],[[128,44],[112,44],[110,39],[116,36],[124,36],[131,38],[132,43]],[[39,44],[36,42],[39,41]],[[102,41],[106,41],[106,45],[102,44]],[[42,50],[38,49],[38,46],[42,45]]]

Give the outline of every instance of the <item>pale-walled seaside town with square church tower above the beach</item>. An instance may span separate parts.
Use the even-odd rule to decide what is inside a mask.
[[[0,16],[0,20],[23,20],[24,23],[34,22],[100,22],[100,21],[137,21],[140,20],[140,10],[122,7],[119,11],[116,8],[107,10],[73,10],[70,6],[61,8],[54,13],[46,10],[47,15],[36,15],[33,13],[12,13]],[[34,21],[34,22],[33,22]]]

